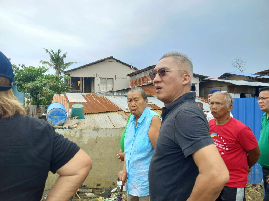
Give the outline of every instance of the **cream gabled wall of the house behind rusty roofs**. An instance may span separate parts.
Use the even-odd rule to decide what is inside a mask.
[[[118,90],[129,87],[130,77],[126,75],[135,71],[136,70],[131,69],[114,59],[107,59],[106,61],[73,70],[68,73],[71,77],[94,77],[94,92],[97,93],[100,92],[98,83],[99,77],[113,78],[114,90]]]

